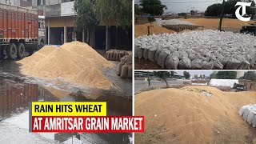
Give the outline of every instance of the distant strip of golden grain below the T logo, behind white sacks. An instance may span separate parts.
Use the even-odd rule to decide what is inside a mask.
[[[192,22],[197,26],[206,26],[207,28],[218,28],[219,19],[218,18],[188,18],[179,19],[181,21]],[[238,19],[223,18],[222,27],[223,28],[242,28],[242,26],[250,25],[253,21],[242,22]]]

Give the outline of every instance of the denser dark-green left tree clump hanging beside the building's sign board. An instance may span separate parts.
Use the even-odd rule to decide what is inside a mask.
[[[95,0],[79,0],[74,2],[74,10],[77,12],[75,25],[78,30],[91,30],[98,26],[99,22],[95,15]]]

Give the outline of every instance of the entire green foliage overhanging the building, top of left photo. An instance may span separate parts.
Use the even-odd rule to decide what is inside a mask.
[[[111,21],[117,26],[131,26],[132,1],[130,0],[78,0],[74,3],[77,12],[78,29],[91,29],[100,22],[109,25]]]

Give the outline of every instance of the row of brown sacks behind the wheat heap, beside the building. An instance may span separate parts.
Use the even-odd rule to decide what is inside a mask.
[[[131,54],[131,51],[126,50],[108,50],[106,51],[106,59],[109,61],[120,61],[126,55]]]

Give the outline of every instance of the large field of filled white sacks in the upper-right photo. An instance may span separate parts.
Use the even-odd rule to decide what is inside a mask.
[[[256,38],[217,30],[158,34],[135,39],[135,57],[177,70],[255,69]]]

